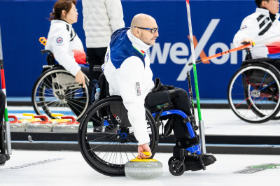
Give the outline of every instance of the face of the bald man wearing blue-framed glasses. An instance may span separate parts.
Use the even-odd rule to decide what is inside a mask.
[[[145,28],[155,29],[158,28],[158,25],[156,22],[150,22],[150,24],[148,24]],[[152,31],[148,29],[139,29],[140,31],[139,38],[147,45],[155,45],[155,40],[159,36],[158,30],[155,31],[155,33],[152,33]]]

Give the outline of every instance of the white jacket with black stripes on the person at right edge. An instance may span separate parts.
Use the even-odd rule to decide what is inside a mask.
[[[261,44],[256,43],[257,45],[251,47],[250,50],[253,59],[268,57],[267,55],[272,52],[269,51],[269,48],[267,48],[265,44],[273,41],[279,41],[280,36],[278,36],[278,38],[274,37],[272,40],[267,40],[267,38],[271,38],[279,34],[279,13],[276,14],[276,19],[272,22],[269,18],[269,10],[257,8],[255,13],[248,15],[242,21],[239,31],[235,34],[233,43],[235,44],[235,47],[239,47],[242,45],[241,42],[244,41],[245,38],[251,38],[255,42],[265,41],[265,43],[261,42]]]

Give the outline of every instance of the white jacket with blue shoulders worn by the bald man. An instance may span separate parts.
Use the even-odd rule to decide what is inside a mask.
[[[139,145],[150,142],[144,103],[155,85],[150,59],[146,55],[148,48],[150,45],[135,37],[130,28],[119,29],[111,37],[102,66],[110,94],[123,98]]]

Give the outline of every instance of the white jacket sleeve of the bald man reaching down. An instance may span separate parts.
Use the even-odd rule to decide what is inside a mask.
[[[132,124],[134,136],[139,145],[149,143],[145,115],[145,97],[141,92],[141,76],[144,74],[144,64],[138,57],[129,57],[120,66],[118,85],[120,96],[123,98],[125,108],[128,110],[128,119]]]

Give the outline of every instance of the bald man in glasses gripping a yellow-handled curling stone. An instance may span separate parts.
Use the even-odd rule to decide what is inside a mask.
[[[139,159],[151,157],[143,153],[151,152],[148,145],[150,137],[147,132],[144,104],[148,106],[149,102],[153,101],[156,106],[170,101],[159,96],[162,92],[152,92],[155,83],[153,83],[153,72],[146,51],[151,45],[155,45],[158,36],[158,24],[153,17],[146,14],[135,15],[130,28],[118,29],[112,34],[105,63],[102,66],[106,80],[109,82],[110,95],[122,96],[123,104],[128,110],[128,119],[139,145]],[[174,107],[191,115],[188,93],[183,89],[174,88],[173,97]],[[181,148],[199,143],[197,138],[195,141],[190,141],[186,124],[179,115],[174,116],[173,130],[176,138],[174,158],[180,157]],[[203,160],[207,166],[213,164],[216,158],[205,155]],[[185,164],[187,171],[202,169],[197,159],[186,158]]]

